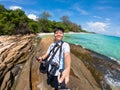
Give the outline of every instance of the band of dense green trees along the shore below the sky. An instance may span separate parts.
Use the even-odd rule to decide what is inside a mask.
[[[13,34],[31,34],[39,32],[53,32],[53,28],[62,27],[65,32],[86,32],[69,20],[68,16],[62,16],[61,22],[51,21],[48,18],[51,15],[44,11],[38,21],[29,19],[25,12],[17,10],[7,10],[3,5],[0,5],[0,35],[13,35]]]

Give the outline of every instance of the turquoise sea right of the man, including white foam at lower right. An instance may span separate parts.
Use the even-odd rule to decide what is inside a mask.
[[[81,45],[120,63],[120,37],[102,34],[65,34],[63,40]],[[112,90],[120,90],[120,69],[106,70],[104,77]]]

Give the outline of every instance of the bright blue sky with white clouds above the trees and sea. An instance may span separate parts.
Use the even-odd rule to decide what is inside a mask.
[[[87,31],[120,36],[120,0],[0,0],[0,4],[20,8],[32,19],[43,11],[51,14],[50,20],[66,15]]]

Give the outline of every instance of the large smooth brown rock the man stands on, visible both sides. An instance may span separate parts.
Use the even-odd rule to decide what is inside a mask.
[[[38,45],[39,49],[36,56],[40,56],[46,53],[49,45],[53,42],[52,37],[43,38]],[[38,48],[37,47],[37,48]],[[71,90],[100,90],[99,84],[96,83],[91,72],[85,67],[80,59],[78,59],[74,54],[71,53],[72,64],[71,64],[71,74],[70,82],[68,87]],[[47,85],[46,74],[41,74],[39,72],[39,64],[33,61],[32,64],[32,90],[52,90],[52,88]]]

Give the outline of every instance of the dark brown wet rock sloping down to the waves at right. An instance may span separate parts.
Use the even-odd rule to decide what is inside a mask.
[[[71,53],[74,53],[84,65],[90,70],[96,82],[103,90],[119,90],[120,87],[108,83],[108,78],[112,81],[119,82],[120,80],[120,65],[116,61],[98,54],[94,51],[85,49],[80,45],[71,44]],[[114,81],[112,82],[114,83]],[[113,87],[114,86],[114,87]],[[116,88],[116,89],[115,89]]]

